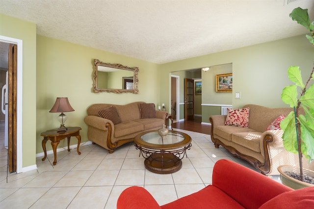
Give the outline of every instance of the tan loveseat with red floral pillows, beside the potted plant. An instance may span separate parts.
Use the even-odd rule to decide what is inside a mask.
[[[298,155],[285,150],[282,130],[266,131],[267,126],[278,116],[288,114],[292,108],[267,108],[259,105],[249,107],[249,127],[242,128],[224,125],[226,116],[210,116],[211,140],[215,147],[219,145],[231,154],[242,158],[266,175],[279,174],[279,165],[298,166]],[[305,159],[305,158],[304,158]],[[314,163],[303,160],[303,166],[314,170]]]

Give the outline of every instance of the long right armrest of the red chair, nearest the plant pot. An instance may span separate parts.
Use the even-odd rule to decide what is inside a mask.
[[[254,170],[226,159],[215,163],[212,185],[231,196],[244,208],[259,208],[277,195],[293,190]]]

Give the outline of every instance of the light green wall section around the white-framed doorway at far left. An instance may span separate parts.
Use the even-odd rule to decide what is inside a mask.
[[[0,14],[0,35],[23,40],[22,167],[27,167],[36,163],[36,24]]]

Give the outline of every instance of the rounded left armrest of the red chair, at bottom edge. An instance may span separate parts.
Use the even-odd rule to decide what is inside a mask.
[[[117,209],[161,209],[154,197],[143,187],[125,189],[117,201]]]

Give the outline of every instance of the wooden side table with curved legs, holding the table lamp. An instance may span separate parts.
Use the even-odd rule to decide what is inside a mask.
[[[70,152],[70,138],[71,137],[76,137],[78,139],[78,149],[79,149],[79,144],[80,144],[80,135],[79,135],[79,130],[81,130],[80,127],[68,127],[68,130],[64,132],[57,132],[57,130],[58,129],[52,129],[52,130],[48,130],[40,134],[40,136],[44,137],[42,141],[42,146],[45,153],[45,157],[41,160],[44,161],[47,158],[46,142],[48,140],[51,140],[51,145],[52,145],[52,150],[53,150],[53,155],[54,155],[53,165],[57,163],[57,153],[56,153],[57,146],[62,139],[68,138],[68,151],[69,152]],[[79,151],[78,151],[78,155],[80,155]]]

